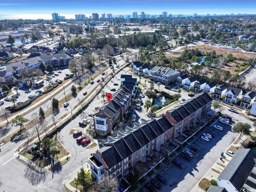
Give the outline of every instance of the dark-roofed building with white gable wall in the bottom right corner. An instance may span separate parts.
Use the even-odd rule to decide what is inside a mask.
[[[239,149],[217,178],[218,186],[207,191],[255,191],[255,160],[256,154],[251,149]]]

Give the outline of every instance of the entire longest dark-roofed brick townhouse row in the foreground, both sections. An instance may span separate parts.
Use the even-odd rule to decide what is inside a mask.
[[[206,115],[211,102],[212,98],[203,93],[160,117],[141,124],[134,123],[124,132],[118,131],[115,138],[108,136],[103,147],[89,158],[93,177],[97,181],[101,181],[103,176],[121,179],[138,163],[149,162],[152,156],[159,156],[158,150]]]

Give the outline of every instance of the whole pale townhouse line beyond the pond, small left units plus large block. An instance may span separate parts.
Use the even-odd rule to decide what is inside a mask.
[[[153,81],[161,82],[166,85],[174,83],[176,78],[180,76],[178,71],[169,67],[147,66],[142,65],[139,61],[132,62],[131,67],[134,74],[150,78]]]

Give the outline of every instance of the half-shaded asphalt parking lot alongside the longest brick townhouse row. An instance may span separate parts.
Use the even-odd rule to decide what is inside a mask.
[[[234,122],[232,123],[234,124]],[[205,172],[220,158],[221,152],[225,151],[238,135],[238,133],[231,132],[231,124],[226,125],[218,122],[217,125],[222,126],[223,131],[219,131],[213,126],[206,127],[201,131],[201,134],[198,134],[197,137],[199,137],[199,139],[197,139],[195,143],[190,143],[190,145],[200,150],[197,154],[193,153],[194,156],[191,158],[190,162],[179,157],[179,161],[182,162],[184,166],[183,169],[179,169],[179,167],[173,163],[166,165],[167,169],[162,172],[162,175],[166,178],[167,185],[162,185],[162,189],[159,191],[187,192],[193,189]],[[202,133],[206,131],[211,131],[215,134],[215,137],[212,137],[210,141],[202,140],[200,137]],[[182,151],[185,149],[188,149],[188,147],[182,149]]]

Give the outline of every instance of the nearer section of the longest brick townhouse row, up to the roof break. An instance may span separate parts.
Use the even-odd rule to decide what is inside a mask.
[[[102,176],[123,178],[138,162],[145,162],[164,143],[170,142],[172,124],[164,117],[150,119],[125,132],[108,136],[103,147],[92,153],[89,164],[92,176],[100,181]],[[158,163],[158,162],[156,162]]]

